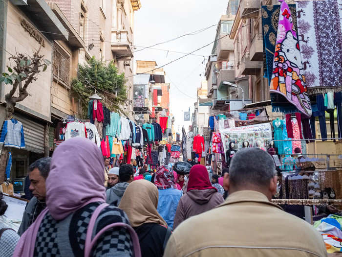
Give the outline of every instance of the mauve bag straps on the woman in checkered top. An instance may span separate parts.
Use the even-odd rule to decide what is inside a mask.
[[[134,250],[134,255],[135,257],[141,257],[141,251],[140,251],[140,243],[139,243],[139,238],[138,235],[135,233],[135,231],[132,229],[131,226],[129,226],[126,223],[122,223],[122,222],[116,222],[116,223],[112,223],[107,225],[106,227],[104,227],[103,229],[101,229],[99,231],[99,233],[97,233],[93,239],[91,239],[91,235],[92,232],[94,230],[94,226],[95,226],[95,222],[97,217],[99,216],[101,210],[103,210],[104,208],[106,208],[107,206],[109,206],[107,203],[103,203],[101,205],[99,205],[93,212],[93,214],[91,215],[89,224],[88,224],[88,228],[86,231],[86,236],[85,236],[85,257],[90,257],[90,253],[91,253],[91,249],[93,248],[94,244],[96,243],[97,239],[100,238],[100,236],[102,234],[104,234],[108,229],[112,229],[115,227],[124,227],[125,229],[128,230],[130,237],[132,239],[132,243],[133,243],[133,250]]]

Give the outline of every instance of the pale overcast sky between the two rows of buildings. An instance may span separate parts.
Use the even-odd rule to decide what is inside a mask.
[[[152,48],[189,53],[205,46],[215,40],[216,26],[227,4],[228,0],[141,0],[141,9],[134,17],[135,50],[215,25],[196,35]],[[170,111],[176,132],[181,132],[182,126],[189,130],[191,121],[184,121],[183,112],[190,107],[193,113],[196,89],[205,79],[205,65],[212,48],[213,44],[194,52],[201,56],[188,55],[164,67],[165,80],[170,83]],[[148,48],[135,52],[134,59],[156,61],[159,67],[183,55]]]

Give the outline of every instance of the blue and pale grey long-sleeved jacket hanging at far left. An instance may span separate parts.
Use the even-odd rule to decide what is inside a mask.
[[[24,130],[20,121],[15,118],[5,120],[2,125],[0,145],[25,148]]]

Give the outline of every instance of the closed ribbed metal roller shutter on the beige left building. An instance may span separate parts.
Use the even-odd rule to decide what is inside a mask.
[[[13,115],[22,123],[25,139],[25,150],[44,153],[44,126],[27,117]]]

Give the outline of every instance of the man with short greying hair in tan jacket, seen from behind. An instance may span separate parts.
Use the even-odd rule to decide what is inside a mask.
[[[267,152],[238,151],[224,176],[229,197],[181,223],[164,257],[326,257],[321,234],[270,202],[277,189],[275,174]]]

